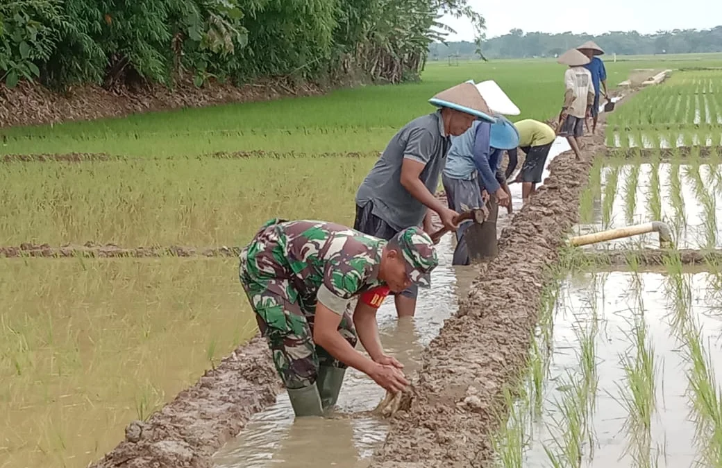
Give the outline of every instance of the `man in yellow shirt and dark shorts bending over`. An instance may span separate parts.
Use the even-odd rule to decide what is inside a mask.
[[[526,154],[521,171],[514,182],[521,182],[521,198],[524,203],[529,195],[536,191],[536,184],[541,183],[541,174],[544,172],[544,164],[547,163],[549,150],[552,149],[554,139],[557,135],[554,129],[539,120],[525,119],[514,123],[519,132],[519,148]],[[507,177],[511,175],[517,164],[516,148],[508,151],[509,167]]]

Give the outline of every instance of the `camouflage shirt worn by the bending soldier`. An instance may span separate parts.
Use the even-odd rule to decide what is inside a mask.
[[[340,224],[271,219],[251,243],[248,273],[287,277],[295,286],[288,299],[305,314],[316,312],[321,301],[342,315],[357,294],[383,286],[377,277],[385,245]]]

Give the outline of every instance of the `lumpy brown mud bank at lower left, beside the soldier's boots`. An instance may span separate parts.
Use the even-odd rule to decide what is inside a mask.
[[[183,390],[91,468],[209,468],[212,455],[280,390],[266,341],[256,336]]]

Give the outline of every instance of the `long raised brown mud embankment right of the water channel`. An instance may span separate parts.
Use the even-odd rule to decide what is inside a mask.
[[[588,157],[604,151],[602,134],[585,138]],[[526,362],[546,267],[577,221],[590,169],[570,151],[549,164],[544,185],[503,229],[499,255],[425,350],[409,410],[391,420],[372,467],[490,464],[503,386]]]

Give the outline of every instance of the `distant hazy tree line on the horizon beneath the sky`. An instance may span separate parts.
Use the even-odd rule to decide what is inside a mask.
[[[458,58],[532,58],[554,57],[570,48],[593,40],[606,53],[618,55],[648,55],[664,53],[704,53],[722,51],[722,26],[709,30],[658,31],[640,34],[636,31],[612,31],[603,35],[548,34],[546,32],[523,32],[513,29],[508,34],[486,39],[477,37],[476,42],[453,42],[430,45],[430,60]]]

